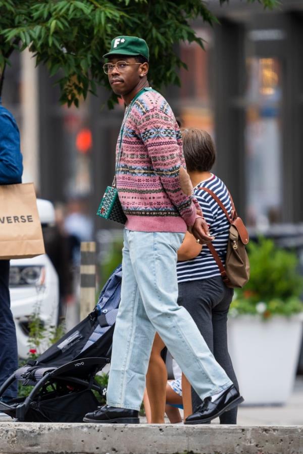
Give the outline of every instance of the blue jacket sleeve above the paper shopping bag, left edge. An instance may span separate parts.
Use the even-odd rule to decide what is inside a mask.
[[[0,108],[0,184],[21,183],[20,134],[14,117]]]

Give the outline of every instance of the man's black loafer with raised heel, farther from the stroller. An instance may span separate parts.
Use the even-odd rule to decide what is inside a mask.
[[[237,388],[232,385],[213,402],[211,397],[206,397],[203,403],[197,408],[197,411],[186,418],[184,424],[210,423],[212,419],[215,419],[227,410],[236,407],[239,403],[243,402],[243,400],[244,399],[240,396]]]

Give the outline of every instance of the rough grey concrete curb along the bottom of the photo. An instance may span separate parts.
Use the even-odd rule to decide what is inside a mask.
[[[303,426],[0,423],[1,454],[303,454]]]

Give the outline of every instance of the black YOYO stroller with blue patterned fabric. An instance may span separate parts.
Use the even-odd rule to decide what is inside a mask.
[[[110,363],[121,280],[119,265],[93,312],[1,386],[0,399],[15,380],[34,387],[25,398],[1,402],[0,411],[18,421],[82,422],[86,413],[96,410],[93,391],[103,395],[104,388],[95,381],[95,374]]]

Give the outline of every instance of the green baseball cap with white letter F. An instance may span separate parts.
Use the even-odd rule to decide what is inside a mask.
[[[111,50],[103,58],[109,58],[111,55],[142,55],[149,60],[149,49],[146,41],[137,36],[117,36],[112,40]]]

